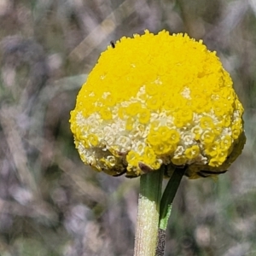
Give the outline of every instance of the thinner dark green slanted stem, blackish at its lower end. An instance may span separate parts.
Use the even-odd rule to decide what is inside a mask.
[[[172,173],[172,177],[167,183],[164,194],[162,195],[160,201],[160,221],[158,230],[158,243],[156,247],[156,256],[163,256],[165,253],[166,246],[166,227],[168,224],[168,219],[172,212],[172,201],[176,195],[177,188],[182,180],[185,173],[185,167],[182,169],[175,169]]]

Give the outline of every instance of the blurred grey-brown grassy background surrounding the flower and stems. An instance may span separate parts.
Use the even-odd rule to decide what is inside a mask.
[[[183,178],[165,255],[256,255],[255,0],[0,0],[1,256],[132,255],[139,179],[84,166],[68,119],[102,50],[145,29],[202,38],[245,108],[230,172]]]

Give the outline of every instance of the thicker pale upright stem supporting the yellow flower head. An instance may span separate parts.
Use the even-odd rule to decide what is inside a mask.
[[[164,167],[143,174],[137,212],[134,256],[154,256],[160,217],[160,197]]]

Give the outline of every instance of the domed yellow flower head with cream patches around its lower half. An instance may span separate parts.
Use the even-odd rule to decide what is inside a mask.
[[[161,165],[225,172],[245,143],[243,108],[216,52],[186,34],[121,38],[79,91],[71,130],[85,164],[137,177]]]

